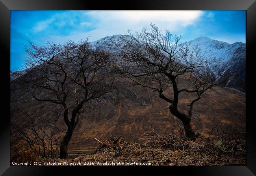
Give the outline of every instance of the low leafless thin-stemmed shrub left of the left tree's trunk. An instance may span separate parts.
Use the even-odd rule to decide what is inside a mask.
[[[56,125],[46,123],[37,116],[32,118],[28,113],[22,116],[12,116],[12,144],[19,147],[29,147],[38,156],[57,158],[59,155],[59,138],[61,131]]]

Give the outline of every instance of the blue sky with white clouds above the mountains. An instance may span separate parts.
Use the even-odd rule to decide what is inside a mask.
[[[160,30],[182,34],[182,40],[207,36],[233,44],[246,42],[246,11],[11,11],[10,69],[22,67],[24,45],[31,40],[63,44],[67,40],[89,42],[105,36],[141,31],[150,22]]]

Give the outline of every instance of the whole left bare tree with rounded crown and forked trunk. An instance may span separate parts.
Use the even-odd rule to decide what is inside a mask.
[[[88,39],[87,39],[88,40]],[[67,131],[60,145],[60,158],[67,158],[68,144],[83,113],[83,105],[111,91],[115,75],[109,70],[111,55],[95,51],[86,41],[57,45],[48,42],[26,46],[27,74],[17,80],[32,89],[39,102],[62,105]]]

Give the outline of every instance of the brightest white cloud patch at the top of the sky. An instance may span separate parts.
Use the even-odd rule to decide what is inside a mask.
[[[193,24],[203,14],[202,11],[89,11],[87,15],[98,20],[98,27],[106,25],[105,27],[128,27],[141,28],[150,22],[156,23],[163,29],[176,30]],[[111,26],[109,26],[111,25]],[[114,26],[115,27],[114,27]],[[127,28],[126,28],[127,30]]]

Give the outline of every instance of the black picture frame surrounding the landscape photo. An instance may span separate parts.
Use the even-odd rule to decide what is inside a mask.
[[[255,0],[129,0],[120,2],[110,1],[88,1],[88,0],[0,0],[0,41],[1,41],[1,128],[0,128],[0,174],[3,176],[39,176],[39,175],[61,175],[62,173],[76,174],[88,173],[88,170],[98,167],[18,167],[10,166],[9,162],[9,20],[10,10],[30,10],[30,9],[132,9],[132,10],[246,10],[247,11],[247,33],[246,33],[246,52],[247,52],[247,83],[246,83],[246,106],[247,106],[247,159],[246,166],[212,166],[212,167],[147,167],[147,172],[158,174],[160,171],[169,174],[190,175],[190,176],[253,176],[256,175],[256,130],[254,104],[256,100],[256,86],[254,76],[254,50],[256,42],[256,2]],[[113,169],[129,170],[126,173],[133,174],[134,167],[100,167],[102,171],[109,171],[111,174],[121,172]],[[145,169],[145,167],[143,167]],[[97,169],[98,170],[98,169]],[[94,172],[99,172],[99,171]],[[110,171],[112,170],[112,171]],[[136,168],[137,170],[137,168]],[[123,172],[123,171],[122,171]]]

